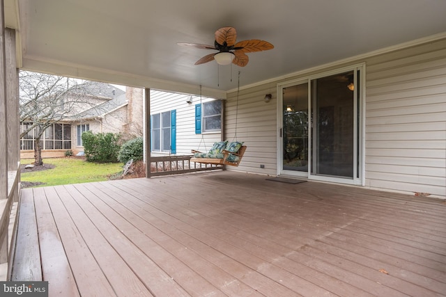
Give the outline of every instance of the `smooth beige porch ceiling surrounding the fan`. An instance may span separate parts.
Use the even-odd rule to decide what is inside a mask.
[[[446,32],[442,0],[6,0],[5,7],[24,69],[221,94],[236,88],[239,70],[245,86]],[[211,51],[176,45],[212,45],[222,26],[275,49],[248,54],[246,67],[217,67],[194,65]]]

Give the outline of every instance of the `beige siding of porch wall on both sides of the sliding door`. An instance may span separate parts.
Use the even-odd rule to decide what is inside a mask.
[[[240,90],[237,138],[247,151],[238,168],[277,172],[277,83],[365,63],[365,184],[446,197],[446,40],[320,67]],[[273,99],[263,102],[265,94]],[[228,95],[226,135],[236,131],[237,93]],[[260,165],[264,164],[265,169]]]

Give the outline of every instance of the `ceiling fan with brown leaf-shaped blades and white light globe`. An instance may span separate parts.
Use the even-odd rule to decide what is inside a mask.
[[[223,27],[215,31],[214,45],[201,45],[199,43],[185,42],[178,42],[178,45],[195,47],[198,49],[216,49],[218,51],[215,54],[203,56],[203,58],[199,59],[195,65],[200,65],[215,60],[219,65],[229,65],[233,63],[240,67],[245,67],[249,62],[249,58],[246,53],[266,51],[274,48],[270,42],[265,40],[251,39],[236,42],[236,39],[237,31],[235,28]]]

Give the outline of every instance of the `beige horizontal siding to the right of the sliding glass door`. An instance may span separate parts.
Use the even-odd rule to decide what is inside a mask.
[[[366,182],[446,196],[446,40],[367,61]]]

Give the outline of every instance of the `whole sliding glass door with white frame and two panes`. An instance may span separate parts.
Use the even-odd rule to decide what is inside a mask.
[[[360,70],[280,86],[279,174],[360,183]]]

